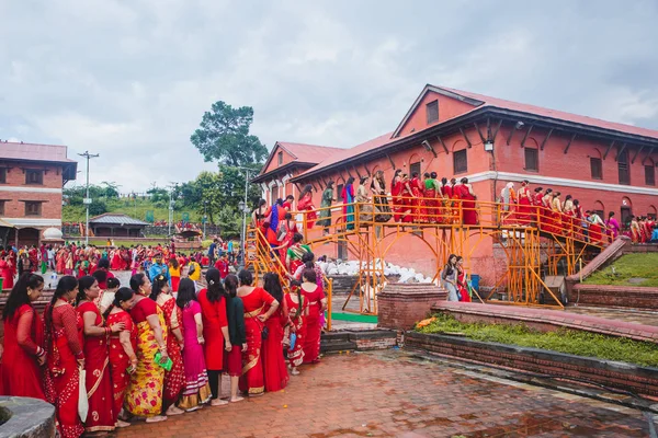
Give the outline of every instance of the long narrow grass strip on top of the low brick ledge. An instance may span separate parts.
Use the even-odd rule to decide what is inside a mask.
[[[475,341],[542,348],[576,356],[658,367],[658,345],[648,342],[571,330],[542,333],[531,330],[524,324],[465,324],[456,321],[451,315],[444,314],[436,314],[434,318],[435,321],[423,327],[417,327],[416,331],[436,334],[460,333]]]

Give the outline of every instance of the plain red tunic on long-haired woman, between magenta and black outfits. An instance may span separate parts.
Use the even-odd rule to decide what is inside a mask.
[[[206,369],[209,371],[222,371],[224,369],[224,334],[222,327],[228,327],[226,319],[226,301],[219,297],[218,301],[208,300],[208,290],[201,289],[197,296],[201,304],[201,316],[203,321],[203,355]]]

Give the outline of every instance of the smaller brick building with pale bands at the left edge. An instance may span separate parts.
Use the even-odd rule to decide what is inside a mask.
[[[61,228],[63,187],[78,163],[66,146],[0,141],[0,217],[13,224],[8,242],[37,244],[48,228]]]

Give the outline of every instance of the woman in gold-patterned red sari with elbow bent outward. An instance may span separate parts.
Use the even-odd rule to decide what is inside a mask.
[[[245,333],[247,335],[247,350],[242,351],[242,376],[240,377],[240,391],[250,396],[262,395],[265,391],[263,366],[261,357],[262,333],[265,322],[279,309],[279,302],[260,287],[252,286],[253,276],[242,269],[238,274],[240,287],[238,297],[245,306]],[[270,309],[265,312],[265,306]]]

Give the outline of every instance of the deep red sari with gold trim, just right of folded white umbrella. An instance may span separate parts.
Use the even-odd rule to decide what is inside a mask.
[[[83,319],[84,313],[95,315],[94,325],[103,326],[101,311],[93,302],[83,302],[78,306],[78,314]],[[89,414],[84,422],[84,430],[101,431],[114,430],[115,415],[112,411],[113,393],[110,378],[110,354],[107,350],[107,335],[84,336],[84,370],[87,371],[87,399],[89,399]]]

